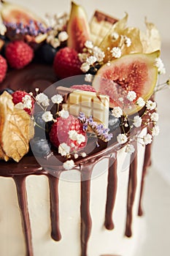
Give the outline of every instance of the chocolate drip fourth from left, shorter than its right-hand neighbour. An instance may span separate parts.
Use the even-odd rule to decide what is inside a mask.
[[[107,230],[112,230],[115,227],[114,222],[112,221],[112,212],[115,206],[116,194],[117,194],[117,154],[115,153],[115,158],[109,159],[107,204],[106,204],[105,222],[104,222],[104,225],[107,228]]]

